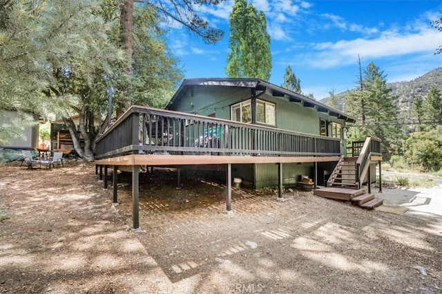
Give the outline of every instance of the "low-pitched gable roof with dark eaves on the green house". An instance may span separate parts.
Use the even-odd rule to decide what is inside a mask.
[[[292,92],[283,87],[274,85],[272,83],[262,81],[259,78],[185,78],[177,92],[173,95],[169,104],[180,101],[182,96],[186,94],[186,90],[193,86],[198,85],[210,85],[210,86],[226,86],[226,87],[248,87],[258,91],[263,91],[276,97],[288,98],[290,102],[300,103],[304,107],[314,107],[318,112],[325,112],[330,116],[343,119],[348,123],[355,123],[356,118],[340,112],[337,109],[329,107],[323,103],[320,103],[314,99],[303,96],[301,94]]]

